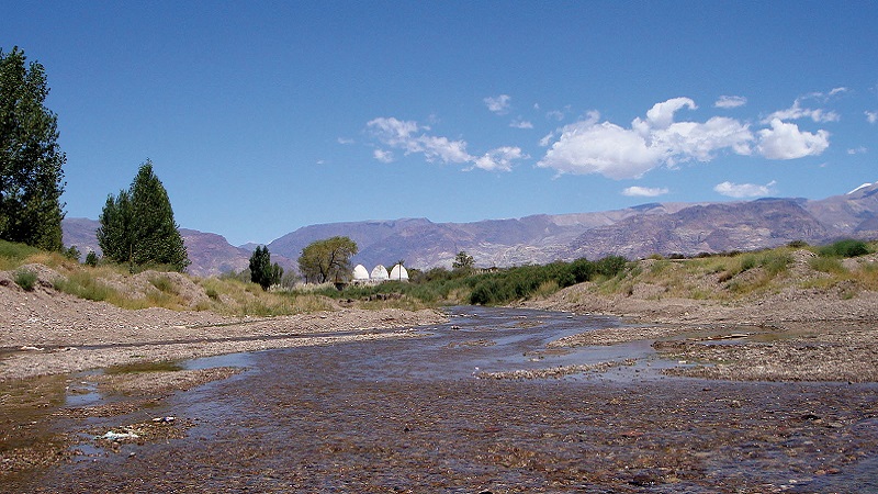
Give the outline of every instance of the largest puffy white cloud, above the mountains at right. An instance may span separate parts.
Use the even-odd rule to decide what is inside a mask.
[[[696,159],[709,161],[717,151],[731,149],[751,154],[754,139],[746,124],[714,116],[707,122],[674,122],[682,109],[697,109],[689,98],[674,98],[653,105],[645,119],[637,117],[631,128],[600,122],[597,112],[559,130],[545,156],[537,164],[560,173],[600,173],[612,179],[639,178],[666,165]],[[540,144],[548,145],[554,134]]]

